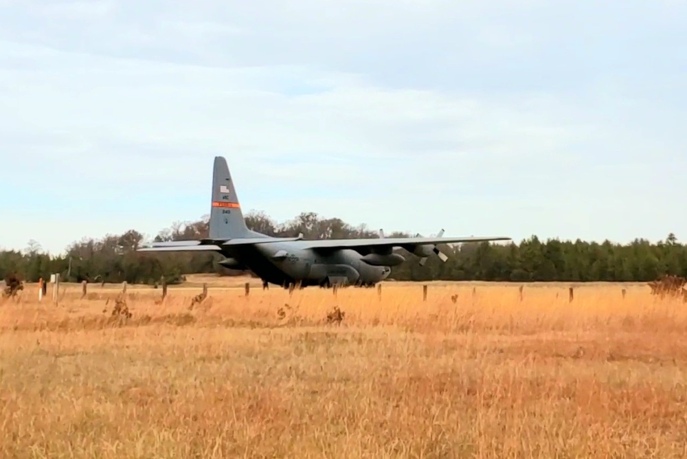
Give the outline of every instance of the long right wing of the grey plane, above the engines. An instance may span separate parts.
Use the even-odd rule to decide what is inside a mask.
[[[374,247],[416,247],[418,245],[480,243],[490,240],[511,240],[506,236],[463,236],[436,238],[368,238],[303,240],[300,247],[306,249],[354,249],[369,252]],[[411,249],[412,251],[412,249]]]

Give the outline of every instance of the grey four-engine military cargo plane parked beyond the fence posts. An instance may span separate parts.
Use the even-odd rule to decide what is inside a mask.
[[[405,261],[394,253],[395,247],[419,256],[420,265],[424,265],[432,253],[444,262],[448,259],[436,248],[438,243],[510,240],[502,236],[385,238],[383,234],[380,238],[304,240],[302,233],[291,238],[261,234],[246,226],[232,175],[221,156],[214,159],[208,236],[152,243],[138,251],[215,251],[225,256],[220,265],[249,269],[265,287],[269,283],[282,287],[371,287],[387,278],[391,267]]]

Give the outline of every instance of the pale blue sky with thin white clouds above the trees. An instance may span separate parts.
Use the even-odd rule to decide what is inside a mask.
[[[684,1],[0,0],[0,247],[210,210],[687,238]],[[11,172],[8,172],[11,171]]]

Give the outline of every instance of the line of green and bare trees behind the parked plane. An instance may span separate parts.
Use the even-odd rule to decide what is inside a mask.
[[[341,219],[326,219],[304,212],[291,221],[276,223],[263,212],[250,212],[246,224],[271,236],[296,236],[306,239],[374,238],[378,232],[365,225],[353,226]],[[157,242],[207,237],[209,216],[194,222],[174,222],[153,240]],[[387,237],[414,234],[394,232]],[[145,253],[135,251],[146,238],[135,229],[124,234],[108,234],[100,239],[82,238],[60,256],[47,254],[35,240],[23,250],[0,251],[0,278],[19,275],[27,282],[49,279],[60,273],[69,282],[128,282],[155,284],[182,282],[189,273],[240,274],[218,265],[223,257],[214,253]],[[511,243],[464,243],[440,246],[449,256],[441,262],[430,256],[424,266],[419,258],[405,251],[403,265],[393,267],[395,280],[486,280],[486,281],[615,281],[648,282],[664,274],[687,276],[687,246],[675,234],[655,243],[637,238],[628,244],[608,240],[540,240],[531,236]]]

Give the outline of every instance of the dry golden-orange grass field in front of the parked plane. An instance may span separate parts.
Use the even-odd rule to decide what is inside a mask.
[[[646,285],[243,282],[4,300],[0,458],[687,457],[687,304]]]

